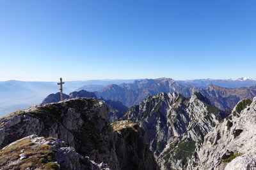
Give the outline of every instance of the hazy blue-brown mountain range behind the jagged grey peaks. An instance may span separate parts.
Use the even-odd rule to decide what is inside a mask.
[[[194,92],[200,92],[211,103],[221,110],[232,110],[241,99],[253,99],[256,96],[256,86],[225,88],[209,85],[207,89],[193,86],[180,85],[170,78],[136,80],[121,85],[109,85],[102,90],[94,92],[98,97],[121,101],[125,106],[131,107],[139,104],[143,99],[154,94],[178,92],[184,97],[190,97]]]

